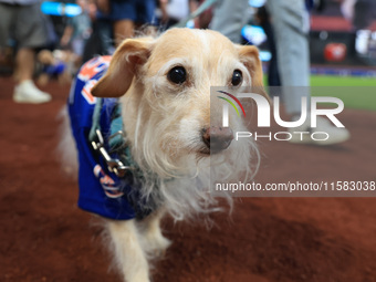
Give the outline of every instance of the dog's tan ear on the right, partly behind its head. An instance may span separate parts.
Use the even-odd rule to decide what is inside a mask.
[[[269,97],[263,88],[262,64],[259,56],[259,50],[252,45],[238,45],[240,61],[246,65],[252,77],[252,88],[258,90],[260,94]]]

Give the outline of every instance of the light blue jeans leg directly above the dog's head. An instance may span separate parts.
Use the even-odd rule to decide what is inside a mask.
[[[219,31],[234,43],[241,43],[241,29],[248,22],[248,0],[219,0],[215,6],[210,29]]]

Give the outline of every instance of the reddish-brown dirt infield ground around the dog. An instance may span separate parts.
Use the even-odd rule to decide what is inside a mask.
[[[44,105],[13,103],[13,86],[0,77],[0,281],[121,281],[55,155],[69,86],[51,82]],[[376,113],[346,109],[341,118],[352,133],[342,145],[262,142],[255,180],[375,181]],[[173,244],[153,281],[376,281],[376,198],[237,198],[232,215],[211,218],[210,229],[164,221]]]

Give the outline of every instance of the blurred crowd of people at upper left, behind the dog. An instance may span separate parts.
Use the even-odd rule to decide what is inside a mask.
[[[0,0],[0,61],[9,46],[15,50],[17,103],[51,101],[51,95],[34,84],[35,64],[42,73],[38,84],[45,84],[49,76],[66,82],[84,61],[112,54],[124,39],[148,32],[146,27],[170,28],[188,17],[199,1],[76,0],[81,12],[67,18],[60,39],[41,4],[41,0]]]

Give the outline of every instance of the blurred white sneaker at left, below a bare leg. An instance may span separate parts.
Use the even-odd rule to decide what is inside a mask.
[[[33,81],[23,81],[14,88],[13,101],[17,103],[41,104],[51,101],[51,95],[40,91]]]

